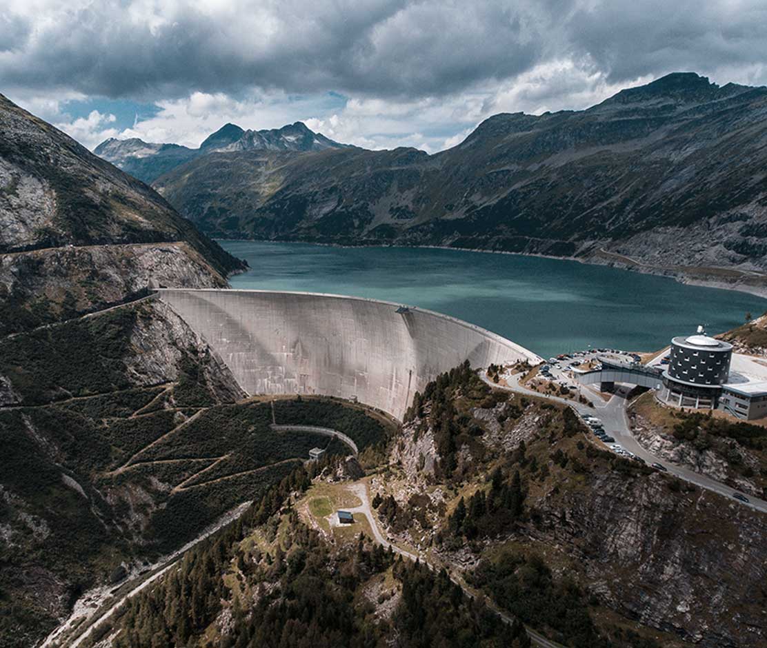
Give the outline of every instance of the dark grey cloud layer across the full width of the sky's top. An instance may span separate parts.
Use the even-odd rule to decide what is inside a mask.
[[[713,0],[71,5],[24,18],[20,5],[18,17],[0,19],[0,52],[10,50],[0,56],[3,87],[155,100],[252,86],[423,97],[562,59],[624,81],[767,55],[764,2],[737,11]]]

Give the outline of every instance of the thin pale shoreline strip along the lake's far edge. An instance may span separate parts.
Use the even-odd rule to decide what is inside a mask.
[[[482,254],[493,255],[511,255],[530,258],[548,258],[554,261],[573,261],[583,265],[601,265],[607,268],[616,268],[617,270],[626,270],[637,272],[640,275],[653,275],[656,277],[667,277],[677,283],[689,286],[700,286],[701,288],[718,288],[720,290],[736,291],[751,294],[754,297],[767,300],[767,285],[764,288],[759,286],[750,286],[739,284],[736,281],[718,281],[716,279],[700,278],[683,272],[670,271],[667,268],[657,268],[652,265],[630,265],[621,262],[600,262],[595,258],[584,258],[574,256],[544,255],[535,252],[509,252],[508,250],[487,250],[484,248],[456,248],[449,245],[342,245],[341,243],[298,241],[295,239],[274,239],[274,238],[216,238],[216,241],[227,242],[254,242],[254,243],[290,243],[291,245],[318,245],[326,248],[341,249],[362,249],[362,248],[395,248],[395,249],[424,249],[424,250],[452,250],[454,252],[481,252]],[[702,268],[703,269],[703,268]],[[239,274],[239,273],[235,273]],[[767,311],[767,305],[765,305]]]

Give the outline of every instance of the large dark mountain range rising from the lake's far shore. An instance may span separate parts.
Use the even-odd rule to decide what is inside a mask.
[[[588,110],[497,114],[434,155],[222,137],[144,177],[216,237],[573,257],[767,294],[765,118],[765,87],[674,73]]]

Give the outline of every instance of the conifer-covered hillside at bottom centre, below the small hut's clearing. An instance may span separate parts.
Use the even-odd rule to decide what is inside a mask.
[[[308,476],[298,469],[284,479],[94,639],[110,637],[115,648],[531,645],[520,624],[466,597],[446,571],[395,558],[363,536],[342,547],[324,541],[282,508]]]

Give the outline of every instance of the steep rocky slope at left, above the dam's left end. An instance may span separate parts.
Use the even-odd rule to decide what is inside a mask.
[[[153,189],[0,96],[0,333],[242,268]]]

